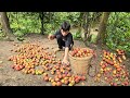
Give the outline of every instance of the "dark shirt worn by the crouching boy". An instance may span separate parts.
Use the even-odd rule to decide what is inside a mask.
[[[55,38],[56,38],[57,35],[60,35],[62,37],[62,39],[65,41],[65,47],[69,47],[72,44],[74,45],[72,33],[68,33],[66,36],[63,36],[62,33],[61,33],[61,29],[58,29],[54,34]]]

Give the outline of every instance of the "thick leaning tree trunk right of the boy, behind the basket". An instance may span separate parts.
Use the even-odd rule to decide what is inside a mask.
[[[104,39],[106,38],[106,26],[107,26],[107,20],[109,16],[110,12],[103,12],[100,21],[100,26],[99,26],[99,34],[98,34],[98,39],[96,44],[103,44],[105,45]]]

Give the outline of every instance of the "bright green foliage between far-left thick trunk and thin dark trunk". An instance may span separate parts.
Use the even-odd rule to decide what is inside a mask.
[[[16,36],[27,33],[40,33],[40,20],[38,13],[8,12],[9,22]]]

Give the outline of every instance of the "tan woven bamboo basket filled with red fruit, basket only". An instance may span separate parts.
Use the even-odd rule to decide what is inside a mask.
[[[74,74],[87,74],[88,73],[88,69],[91,64],[93,54],[90,54],[86,58],[75,58],[75,57],[72,57],[70,53],[68,53],[68,56],[69,56],[72,72]]]

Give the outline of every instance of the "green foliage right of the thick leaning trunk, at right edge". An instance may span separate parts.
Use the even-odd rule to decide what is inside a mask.
[[[130,13],[110,13],[107,24],[106,45],[110,49],[122,49],[130,52]]]

